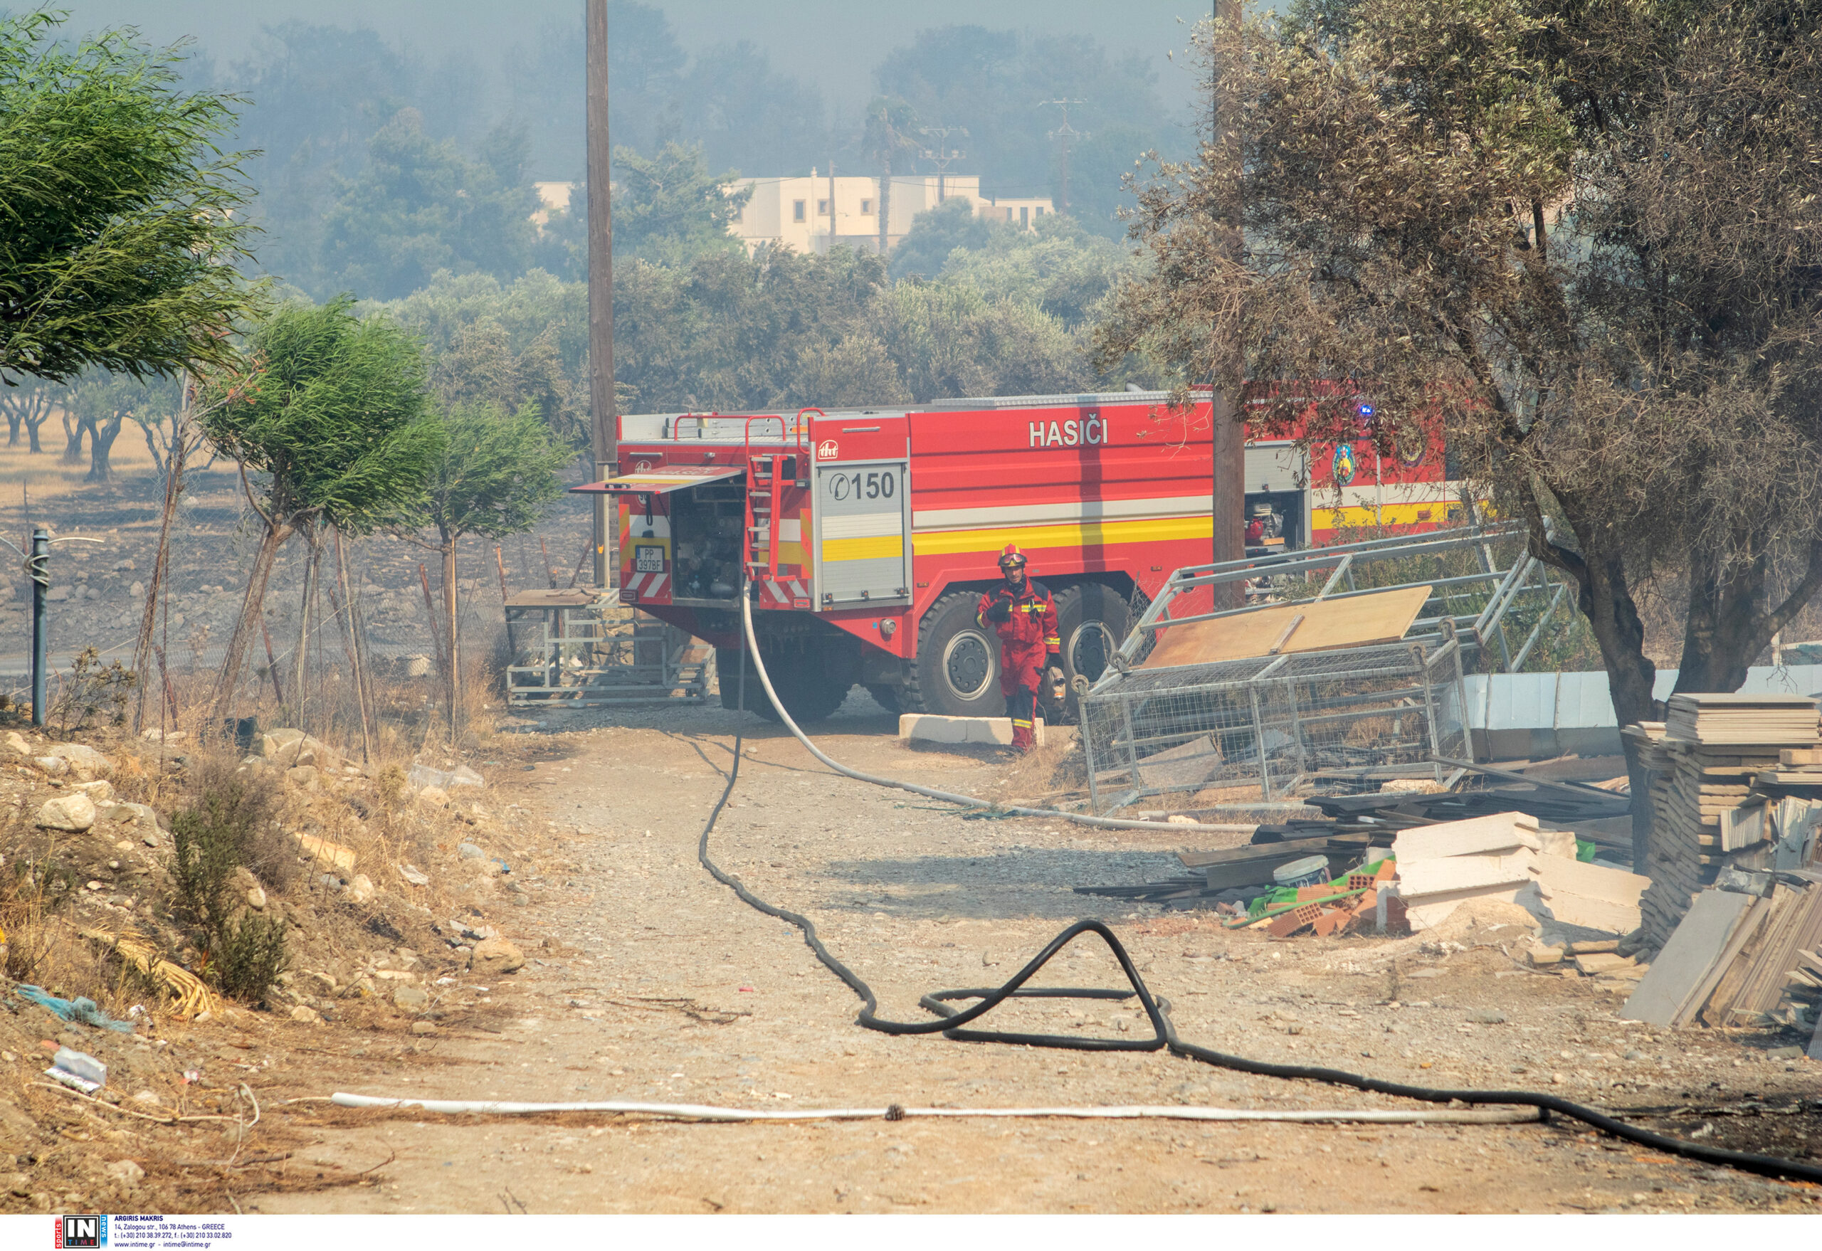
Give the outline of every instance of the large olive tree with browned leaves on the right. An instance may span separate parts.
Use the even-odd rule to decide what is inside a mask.
[[[1685,595],[1676,688],[1733,690],[1822,585],[1818,36],[1815,5],[1773,0],[1328,0],[1203,27],[1213,117],[1139,188],[1155,268],[1102,361],[1354,382],[1266,413],[1314,441],[1359,437],[1350,392],[1388,446],[1443,419],[1571,579],[1622,723],[1656,710],[1647,588]]]

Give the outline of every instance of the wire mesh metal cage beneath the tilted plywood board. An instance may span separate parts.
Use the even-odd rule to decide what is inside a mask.
[[[1363,772],[1441,781],[1469,752],[1452,632],[1332,652],[1131,670],[1082,697],[1093,810],[1150,796],[1212,809],[1345,790]]]

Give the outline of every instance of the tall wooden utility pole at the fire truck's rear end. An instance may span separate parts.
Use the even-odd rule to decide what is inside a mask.
[[[612,146],[607,138],[607,0],[589,0],[589,410],[594,428],[594,477],[619,459],[614,412],[614,213],[609,204]],[[614,577],[614,535],[607,495],[594,497],[594,585]]]

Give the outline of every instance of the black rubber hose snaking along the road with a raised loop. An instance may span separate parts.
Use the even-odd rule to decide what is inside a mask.
[[[747,703],[747,652],[740,652],[740,677],[738,677],[740,707],[745,708]],[[935,991],[926,994],[918,1003],[933,1012],[937,1020],[929,1022],[893,1022],[878,1014],[878,996],[873,994],[873,987],[860,980],[853,969],[836,960],[827,947],[824,947],[822,938],[816,936],[816,923],[800,912],[789,909],[780,909],[760,896],[747,890],[738,878],[723,872],[712,859],[709,859],[709,834],[714,832],[716,821],[722,819],[722,810],[727,807],[729,798],[734,794],[734,783],[740,781],[740,752],[742,752],[742,723],[734,727],[734,767],[727,774],[727,787],[722,788],[722,798],[714,801],[714,809],[709,812],[707,825],[701,827],[701,839],[696,843],[696,859],[709,874],[729,887],[740,896],[743,903],[767,916],[776,916],[782,921],[796,925],[804,934],[804,941],[809,945],[811,952],[822,965],[833,972],[836,978],[847,983],[847,987],[860,996],[862,1009],[856,1018],[865,1029],[875,1029],[882,1034],[942,1034],[944,1038],[955,1038],[960,1042],[991,1042],[991,1043],[1015,1043],[1024,1047],[1060,1047],[1068,1051],[1162,1051],[1170,1049],[1186,1060],[1197,1060],[1201,1063],[1215,1065],[1219,1069],[1233,1069],[1237,1073],[1252,1073],[1264,1078],[1288,1078],[1299,1082],[1325,1082],[1328,1085],[1346,1085],[1356,1091],[1368,1091],[1374,1094],[1392,1094],[1396,1098],[1419,1100],[1423,1104],[1505,1104],[1516,1107],[1538,1107],[1545,1113],[1556,1113],[1571,1120],[1578,1120],[1585,1125],[1620,1138],[1623,1142],[1633,1142],[1642,1147],[1651,1147],[1653,1151],[1663,1151],[1667,1154],[1684,1156],[1687,1160],[1700,1160],[1704,1164],[1720,1164],[1742,1173],[1756,1173],[1762,1176],[1776,1176],[1795,1182],[1822,1182],[1822,1167],[1813,1164],[1800,1164],[1796,1160],[1782,1160],[1778,1156],[1755,1154],[1751,1151],[1727,1151],[1724,1147],[1709,1147],[1700,1142],[1689,1142],[1685,1138],[1671,1138],[1667,1134],[1656,1134],[1649,1129],[1640,1129],[1629,1125],[1623,1120],[1609,1116],[1598,1109],[1587,1107],[1583,1104],[1574,1104],[1554,1094],[1543,1094],[1540,1091],[1441,1091],[1423,1085],[1407,1085],[1403,1082],[1383,1082],[1379,1078],[1368,1078],[1359,1073],[1346,1073],[1345,1069],[1323,1069],[1315,1065],[1303,1063],[1272,1063],[1268,1060],[1250,1060],[1246,1056],[1230,1056],[1221,1051],[1212,1051],[1208,1047],[1197,1047],[1195,1043],[1186,1043],[1177,1038],[1177,1027],[1170,1020],[1170,1003],[1157,998],[1146,987],[1144,978],[1139,976],[1139,969],[1133,965],[1131,956],[1121,940],[1108,929],[1106,923],[1097,920],[1082,920],[1070,925],[1066,931],[1057,934],[1049,943],[1044,945],[1037,956],[1026,963],[1024,969],[1015,972],[1011,980],[998,987],[978,987],[969,991]],[[1121,971],[1126,974],[1130,989],[1117,991],[1106,987],[1035,987],[1024,989],[1037,972],[1049,963],[1049,960],[1075,941],[1082,934],[1097,934],[1113,952],[1119,961]],[[1141,1007],[1144,1007],[1146,1018],[1152,1022],[1152,1038],[1082,1038],[1073,1034],[1017,1034],[1006,1031],[991,1029],[960,1029],[967,1022],[973,1022],[986,1012],[1011,998],[1042,998],[1042,1000],[1128,1000],[1137,998]],[[955,1009],[949,1000],[978,1000],[969,1009]]]

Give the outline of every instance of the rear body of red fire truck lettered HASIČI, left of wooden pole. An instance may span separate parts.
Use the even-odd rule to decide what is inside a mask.
[[[1017,543],[1057,599],[1068,676],[1093,681],[1170,572],[1210,559],[1210,406],[1164,392],[619,419],[619,597],[712,643],[734,707],[740,588],[798,719],[858,683],[891,710],[1002,716],[975,621]],[[754,681],[747,707],[767,714]]]

